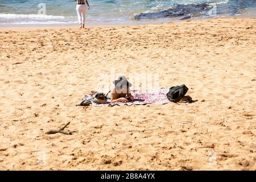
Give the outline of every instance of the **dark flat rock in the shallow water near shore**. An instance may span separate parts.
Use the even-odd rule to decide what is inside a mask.
[[[174,18],[184,16],[181,19],[189,19],[196,14],[206,13],[210,10],[210,6],[207,3],[200,3],[197,5],[177,5],[174,8],[159,11],[156,13],[141,13],[135,15],[135,19],[158,19],[158,18]]]

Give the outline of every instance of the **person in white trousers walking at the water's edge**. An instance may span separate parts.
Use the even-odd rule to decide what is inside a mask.
[[[90,10],[90,6],[87,0],[74,0],[77,2],[76,5],[76,12],[77,16],[79,19],[79,24],[81,25],[80,28],[84,28],[84,23],[85,23],[85,10],[86,10],[86,5],[88,6],[88,10]]]

